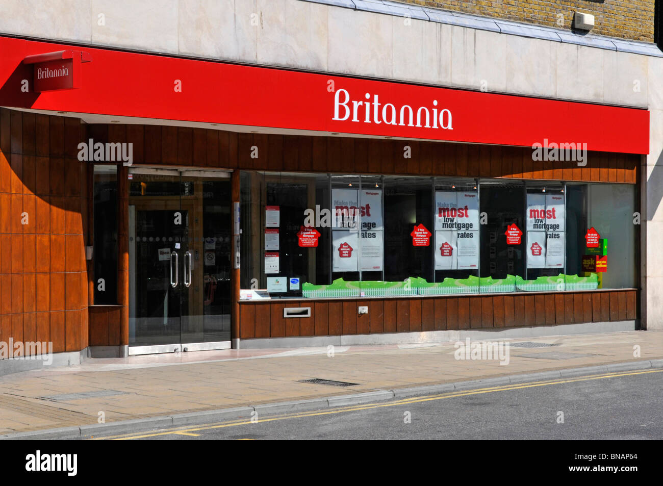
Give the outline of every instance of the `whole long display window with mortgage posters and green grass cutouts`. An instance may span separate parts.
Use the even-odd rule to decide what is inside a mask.
[[[627,184],[243,172],[241,287],[271,298],[631,288],[636,233],[625,225],[634,191]],[[623,249],[610,267],[615,274],[583,267],[594,251],[585,247],[592,225]]]

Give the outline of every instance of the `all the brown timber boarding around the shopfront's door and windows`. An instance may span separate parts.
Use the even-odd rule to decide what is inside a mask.
[[[127,168],[119,164],[118,302],[94,306],[93,261],[85,259],[85,247],[92,245],[93,162],[78,160],[78,144],[89,139],[133,143],[133,164],[241,170],[637,184],[640,162],[637,154],[589,152],[587,165],[578,167],[533,162],[528,147],[85,125],[74,117],[0,109],[0,341],[52,341],[54,352],[128,344]],[[251,158],[253,147],[257,158]],[[578,294],[241,302],[239,335],[232,337],[549,326],[636,316],[636,290]],[[312,316],[282,318],[282,307],[297,304],[311,306]],[[356,314],[361,304],[369,314]]]

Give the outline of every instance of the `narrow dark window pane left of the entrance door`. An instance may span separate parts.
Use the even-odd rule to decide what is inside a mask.
[[[117,168],[94,166],[94,303],[117,304]]]

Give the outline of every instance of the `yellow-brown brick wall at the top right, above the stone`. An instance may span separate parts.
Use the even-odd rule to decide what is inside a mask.
[[[594,15],[592,34],[654,42],[654,0],[399,1],[566,30],[572,27],[573,12],[579,11]]]

